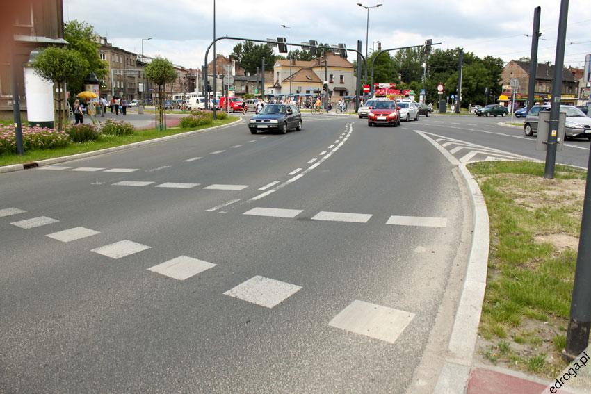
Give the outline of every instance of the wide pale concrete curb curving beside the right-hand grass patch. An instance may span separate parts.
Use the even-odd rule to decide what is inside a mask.
[[[470,377],[486,289],[490,243],[488,211],[483,193],[467,167],[435,140],[421,131],[415,132],[428,140],[452,165],[458,167],[471,195],[474,222],[464,288],[460,295],[458,311],[455,313],[444,366],[433,391],[441,394],[464,393]]]

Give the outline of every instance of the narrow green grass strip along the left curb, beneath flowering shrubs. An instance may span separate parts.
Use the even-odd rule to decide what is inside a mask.
[[[106,149],[111,147],[118,147],[120,145],[131,144],[132,142],[140,142],[145,140],[153,140],[165,136],[172,136],[174,134],[185,133],[186,131],[209,129],[213,126],[222,126],[223,124],[232,123],[238,120],[236,116],[230,116],[227,119],[216,120],[211,124],[191,128],[170,128],[165,131],[157,131],[156,129],[138,130],[129,136],[108,136],[103,134],[99,140],[81,143],[72,143],[67,147],[59,149],[38,149],[33,151],[26,151],[23,156],[16,154],[0,155],[0,166],[29,163],[31,161],[40,161],[46,158],[55,158],[61,156],[69,156],[71,154],[79,154],[89,151],[97,151],[99,149]]]

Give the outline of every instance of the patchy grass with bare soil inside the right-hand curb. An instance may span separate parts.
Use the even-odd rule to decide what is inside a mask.
[[[544,164],[469,165],[485,196],[491,244],[481,361],[553,379],[564,348],[586,172]]]

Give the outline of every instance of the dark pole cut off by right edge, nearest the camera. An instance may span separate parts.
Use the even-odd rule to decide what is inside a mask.
[[[587,165],[587,184],[583,203],[581,236],[574,272],[574,286],[565,356],[574,359],[589,345],[591,328],[591,154]]]

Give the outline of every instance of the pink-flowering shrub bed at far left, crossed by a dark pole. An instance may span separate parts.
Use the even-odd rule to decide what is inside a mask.
[[[64,131],[40,126],[22,126],[23,147],[31,149],[52,149],[70,144],[70,137]],[[14,154],[17,151],[15,126],[0,124],[0,154]]]

